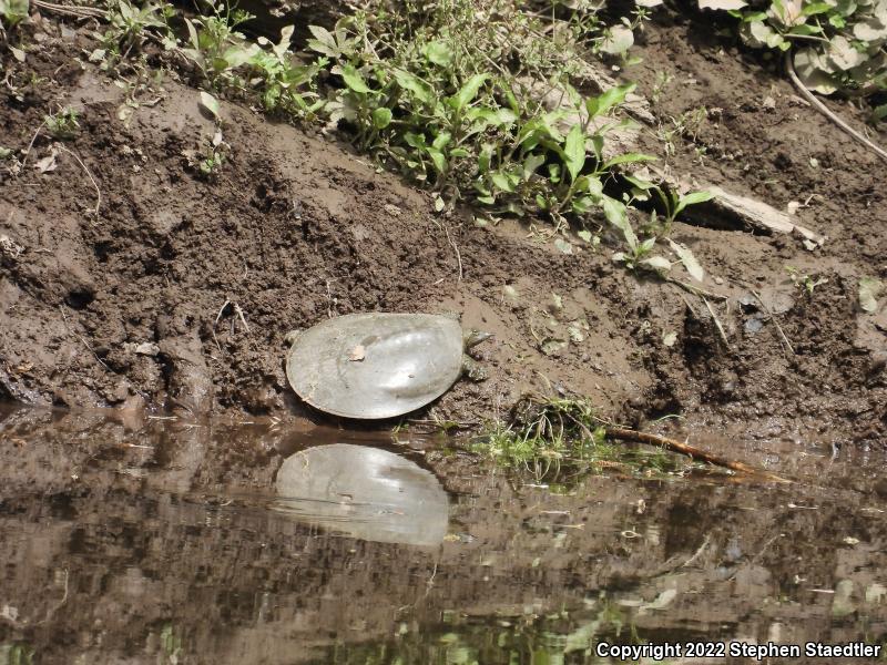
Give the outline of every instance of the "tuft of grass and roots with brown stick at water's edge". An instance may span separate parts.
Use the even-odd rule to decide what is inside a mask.
[[[500,466],[529,472],[537,482],[569,487],[588,473],[615,469],[661,475],[677,461],[661,449],[635,449],[606,439],[603,421],[588,398],[524,396],[508,423],[498,422],[471,443]]]

